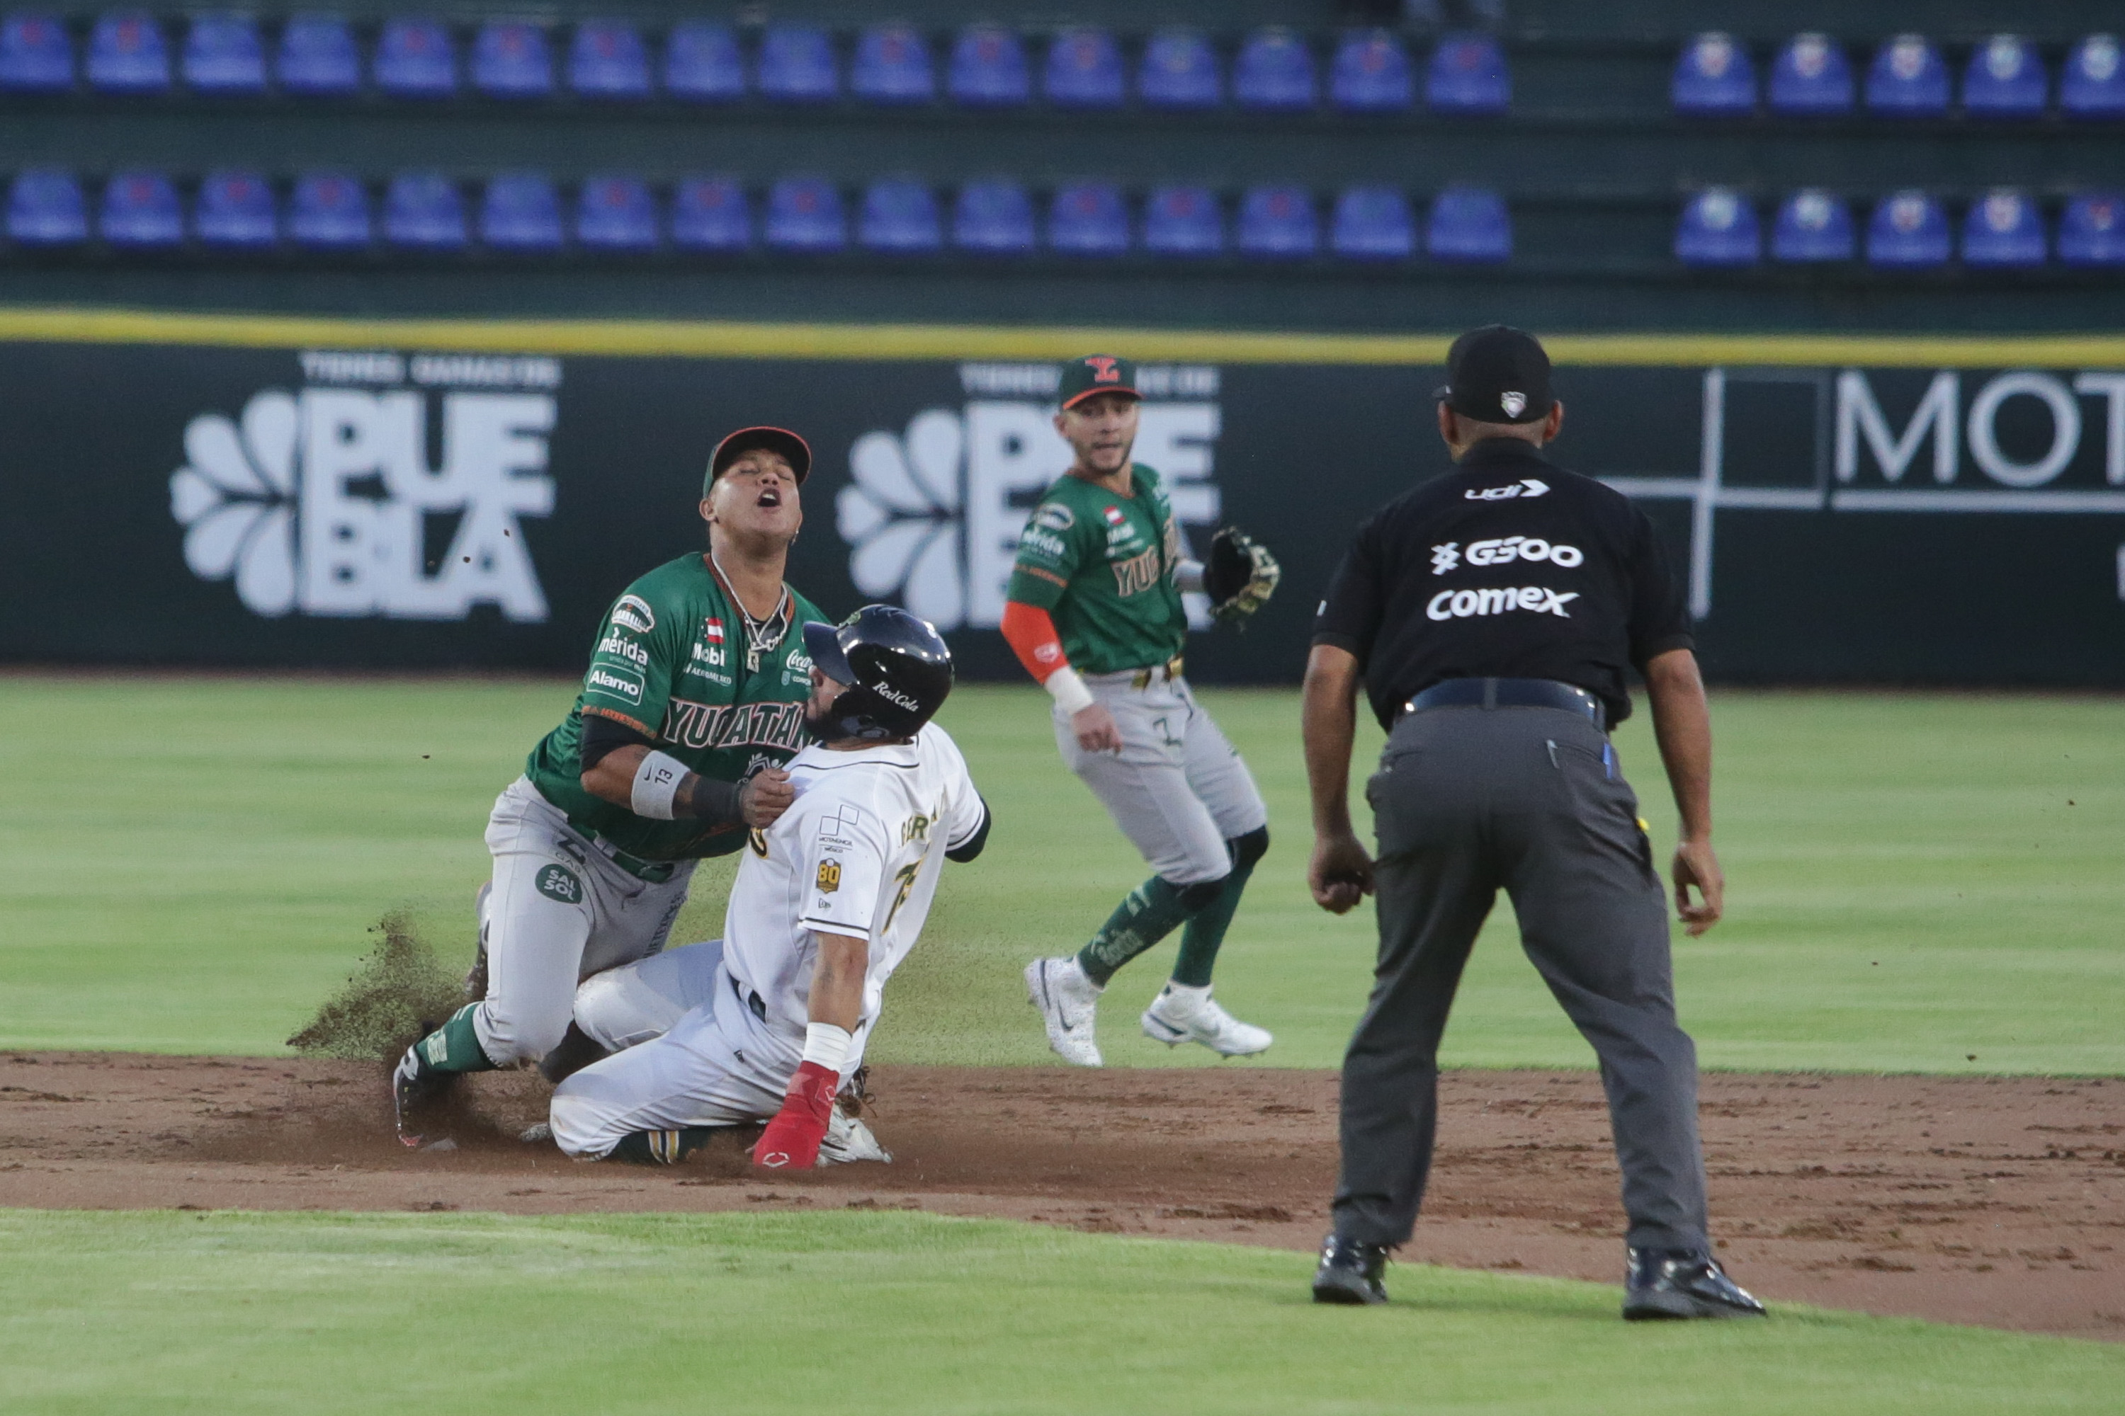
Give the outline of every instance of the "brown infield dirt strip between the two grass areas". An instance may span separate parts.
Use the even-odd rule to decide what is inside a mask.
[[[529,1072],[468,1078],[408,1151],[372,1064],[0,1057],[0,1206],[244,1210],[922,1208],[1305,1250],[1328,1223],[1337,1078],[1277,1068],[871,1074],[892,1165],[754,1178],[750,1134],[672,1170],[516,1134]],[[1405,1261],[1617,1282],[1600,1083],[1449,1072]],[[1721,1259],[1760,1297],[2125,1340],[2125,1081],[1706,1074]],[[1309,1263],[1294,1255],[1292,1282]],[[1388,1270],[1390,1291],[1394,1270]]]

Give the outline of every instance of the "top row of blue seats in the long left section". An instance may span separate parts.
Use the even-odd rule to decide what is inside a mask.
[[[268,64],[268,53],[272,62]],[[731,102],[761,93],[780,102],[831,102],[846,93],[873,104],[926,104],[939,74],[926,34],[876,25],[856,36],[844,89],[835,36],[816,25],[769,25],[748,55],[733,28],[682,21],[669,28],[661,64],[644,34],[620,19],[586,19],[570,38],[555,74],[546,25],[487,21],[472,38],[470,87],[489,98]],[[1024,106],[1039,96],[1067,108],[1116,108],[1128,100],[1128,64],[1114,34],[1058,34],[1039,66],[1026,40],[1001,25],[971,25],[950,45],[944,93],[967,106]],[[1230,64],[1230,102],[1250,110],[1292,113],[1320,104],[1313,45],[1281,28],[1245,38]],[[87,85],[106,93],[187,89],[217,96],[346,96],[363,89],[361,42],[338,15],[295,15],[268,45],[246,15],[200,15],[170,57],[162,23],[144,11],[113,11],[87,38]],[[450,98],[461,91],[457,36],[434,19],[397,17],[376,34],[370,79],[393,98]],[[0,21],[0,91],[70,91],[76,85],[74,36],[49,13],[17,11]],[[1154,108],[1216,108],[1226,102],[1224,64],[1194,30],[1154,34],[1135,66],[1135,93]],[[1400,113],[1415,104],[1417,74],[1402,42],[1386,30],[1352,32],[1328,57],[1328,102],[1345,113]],[[1451,34],[1424,70],[1424,102],[1441,113],[1502,113],[1511,102],[1504,51],[1488,34]]]

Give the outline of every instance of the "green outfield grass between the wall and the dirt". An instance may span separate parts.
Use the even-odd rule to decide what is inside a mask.
[[[570,694],[559,679],[0,675],[0,1044],[274,1053],[393,906],[470,957],[487,809]],[[1275,834],[1220,996],[1277,1032],[1269,1061],[1334,1066],[1371,917],[1307,900],[1296,696],[1203,698]],[[1043,1061],[1020,964],[1073,949],[1143,877],[1056,760],[1043,705],[1031,686],[946,705],[997,832],[948,870],[880,1057]],[[1677,940],[1708,1066],[2125,1070],[2125,701],[1721,692],[1715,726],[1730,919]],[[1617,739],[1655,841],[1670,839],[1643,718]],[[725,870],[703,870],[682,934],[720,930]],[[1109,994],[1111,1064],[1209,1064],[1137,1036],[1169,960],[1164,945]],[[1509,909],[1470,966],[1447,1061],[1592,1061]]]

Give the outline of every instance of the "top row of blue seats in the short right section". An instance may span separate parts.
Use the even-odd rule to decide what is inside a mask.
[[[1853,113],[1855,87],[1866,110],[1930,119],[1949,113],[1949,62],[1923,34],[1898,34],[1874,51],[1866,83],[1853,83],[1844,49],[1828,34],[1798,34],[1770,64],[1770,110],[1783,115]],[[1674,110],[1749,115],[1757,110],[1757,79],[1749,49],[1732,34],[1700,34],[1674,64]],[[1964,66],[1964,113],[1983,119],[2034,119],[2051,108],[2051,74],[2036,45],[1995,34],[1970,51]],[[2125,117],[2125,64],[2114,34],[2074,45],[2059,74],[2059,110],[2076,119]]]

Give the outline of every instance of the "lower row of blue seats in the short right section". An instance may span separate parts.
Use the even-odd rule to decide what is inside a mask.
[[[1874,204],[1866,223],[1866,261],[1885,270],[1946,265],[1955,231],[1946,206],[1925,191],[1898,191]],[[1821,189],[1796,191],[1779,204],[1770,227],[1774,261],[1851,261],[1859,255],[1851,208]],[[2044,210],[2023,191],[1998,189],[1964,214],[1964,265],[2036,267],[2051,257]],[[1764,259],[1755,206],[1713,187],[1683,208],[1674,255],[1687,265],[1753,265]],[[2125,265],[2125,193],[2068,197],[2059,214],[2057,257],[2066,265]]]

